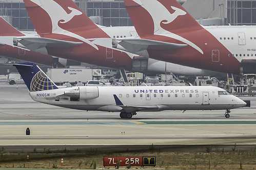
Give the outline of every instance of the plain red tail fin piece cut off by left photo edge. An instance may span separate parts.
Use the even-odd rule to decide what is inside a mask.
[[[24,34],[12,27],[4,18],[0,17],[0,36],[24,36]]]

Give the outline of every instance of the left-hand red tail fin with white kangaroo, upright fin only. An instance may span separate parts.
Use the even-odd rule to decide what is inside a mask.
[[[99,29],[72,0],[24,0],[24,3],[38,34]]]

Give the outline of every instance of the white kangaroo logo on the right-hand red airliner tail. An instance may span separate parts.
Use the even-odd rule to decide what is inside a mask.
[[[174,10],[174,13],[170,13],[163,4],[161,4],[159,1],[148,1],[148,0],[132,0],[133,2],[141,5],[145,10],[148,11],[148,13],[151,15],[153,21],[154,21],[154,35],[161,34],[162,36],[170,37],[176,40],[179,40],[181,42],[184,42],[193,48],[195,50],[199,51],[201,54],[204,54],[204,52],[201,50],[200,47],[192,43],[191,41],[176,35],[174,33],[171,33],[170,31],[167,31],[161,27],[161,23],[168,24],[174,21],[175,19],[179,18],[182,15],[186,15],[187,13],[183,11],[180,8],[176,8],[171,6],[170,8]],[[157,9],[157,10],[155,10]],[[161,14],[159,12],[161,11]],[[165,21],[166,20],[166,21]],[[167,34],[166,34],[167,33]]]

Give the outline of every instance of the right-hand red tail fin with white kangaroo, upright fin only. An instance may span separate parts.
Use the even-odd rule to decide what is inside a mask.
[[[176,0],[124,0],[140,36],[203,29]]]

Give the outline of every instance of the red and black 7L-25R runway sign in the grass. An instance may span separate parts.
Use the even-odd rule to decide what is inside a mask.
[[[155,157],[148,156],[104,156],[104,166],[116,166],[117,162],[120,166],[155,166]]]

